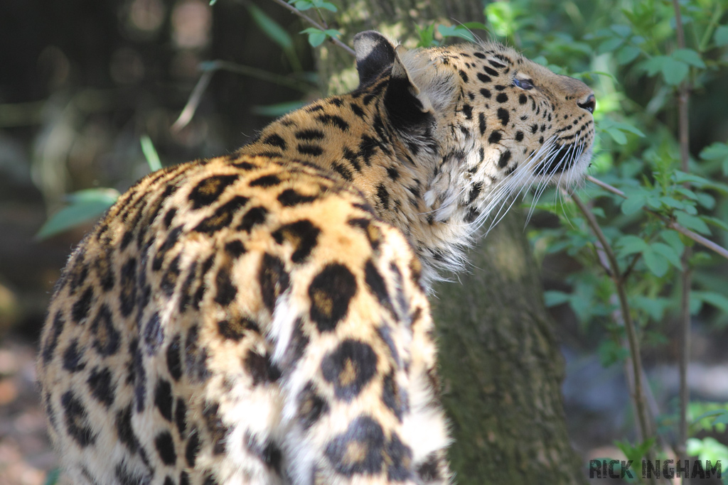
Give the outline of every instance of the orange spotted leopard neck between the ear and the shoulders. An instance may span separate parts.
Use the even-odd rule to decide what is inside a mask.
[[[436,141],[435,121],[425,132],[395,129],[380,95],[386,82],[289,113],[240,151],[304,161],[352,184],[382,220],[408,236],[424,279],[440,279],[438,270],[462,267],[470,243],[473,217],[460,199],[470,192],[462,167],[471,151],[462,146],[474,138],[448,127],[448,136],[463,139],[454,149]]]

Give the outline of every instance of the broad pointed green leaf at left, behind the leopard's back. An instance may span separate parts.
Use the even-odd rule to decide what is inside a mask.
[[[119,192],[112,188],[90,188],[67,196],[70,204],[63,207],[46,221],[36,234],[36,239],[47,239],[67,231],[76,225],[87,223],[102,215],[114,205]]]

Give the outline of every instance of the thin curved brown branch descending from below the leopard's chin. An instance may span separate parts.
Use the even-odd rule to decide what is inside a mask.
[[[566,195],[569,194],[566,193]],[[604,233],[601,231],[599,223],[596,221],[594,215],[586,207],[582,200],[579,199],[579,196],[577,196],[577,194],[571,193],[571,200],[574,201],[574,204],[577,204],[577,207],[582,212],[582,215],[584,215],[585,219],[587,220],[587,224],[601,244],[601,249],[604,250],[606,257],[609,260],[609,265],[612,267],[612,281],[614,281],[614,287],[615,289],[617,289],[617,298],[620,300],[620,312],[622,313],[622,320],[625,323],[627,341],[630,348],[630,358],[632,360],[631,377],[634,380],[634,392],[631,394],[637,414],[639,435],[641,437],[641,441],[644,442],[651,438],[652,433],[650,430],[652,429],[652,426],[649,425],[647,409],[644,402],[645,393],[643,391],[642,382],[642,358],[639,351],[637,330],[630,314],[630,306],[627,300],[627,292],[625,291],[624,280],[622,279],[622,276],[620,274],[620,266],[617,263],[617,257],[614,255],[612,246],[609,245],[609,241],[607,241],[606,236],[604,236]],[[649,454],[650,453],[648,452],[648,455]],[[652,478],[652,483],[654,483],[654,477]]]

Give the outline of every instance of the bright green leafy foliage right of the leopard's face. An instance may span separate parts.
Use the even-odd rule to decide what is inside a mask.
[[[580,328],[590,335],[601,334],[594,350],[605,366],[628,357],[625,330],[614,319],[621,312],[617,285],[626,292],[643,346],[668,345],[665,330],[677,326],[681,314],[676,281],[688,268],[692,271],[689,310],[696,321],[704,322],[705,332],[728,326],[725,260],[697,245],[697,236],[691,239],[673,230],[678,224],[720,246],[728,243],[725,135],[709,129],[694,136],[705,146],[694,141],[686,170],[677,123],[679,89],[685,84],[691,88],[692,124],[705,127],[695,107],[720,110],[725,103],[716,86],[728,74],[728,4],[720,0],[680,4],[684,48],[676,43],[675,12],[669,1],[540,1],[538,10],[551,12],[548,17],[536,15],[534,2],[526,0],[491,2],[486,7],[490,32],[500,40],[556,72],[584,79],[596,92],[598,135],[591,175],[621,195],[590,183],[581,191],[614,250],[617,274],[586,217],[568,198],[552,195],[555,200],[550,203],[545,201],[548,193],[542,196],[537,209],[558,215],[560,226],[530,229],[529,235],[542,257],[559,253],[575,263],[577,270],[562,277],[571,289],[547,291],[545,302],[568,305]],[[695,130],[692,125],[691,130]],[[527,207],[531,204],[526,201]],[[689,246],[693,255],[686,264],[682,257]],[[719,406],[724,409],[724,404]],[[716,423],[708,428],[717,431],[716,426],[728,422],[728,412],[716,411],[711,419]],[[670,423],[670,431],[676,422]],[[692,428],[693,433],[699,430]],[[641,460],[646,445],[620,444],[620,448],[628,458]],[[713,438],[693,438],[688,445],[701,459],[728,459],[724,444]]]

